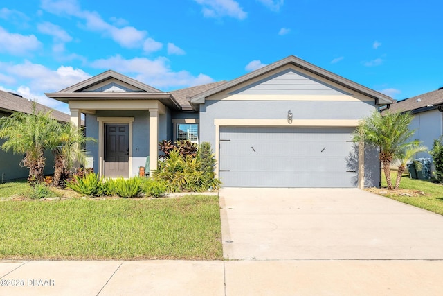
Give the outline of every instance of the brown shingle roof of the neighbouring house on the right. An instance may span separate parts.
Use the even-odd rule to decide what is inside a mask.
[[[420,108],[426,108],[428,105],[437,106],[443,104],[443,88],[437,89],[433,92],[427,92],[426,94],[420,94],[419,96],[413,96],[407,98],[404,101],[399,101],[390,105],[389,111],[410,111]]]

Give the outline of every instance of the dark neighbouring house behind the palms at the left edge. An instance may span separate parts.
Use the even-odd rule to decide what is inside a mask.
[[[36,110],[48,112],[51,111],[55,119],[61,122],[69,122],[68,114],[53,110],[41,104],[36,104]],[[18,94],[3,92],[0,90],[0,117],[10,116],[13,112],[32,112],[32,102],[23,98]],[[5,140],[0,140],[0,146]],[[6,182],[15,179],[27,178],[29,175],[28,168],[19,166],[24,155],[14,155],[6,153],[0,149],[0,182]],[[45,151],[46,166],[44,173],[51,175],[54,173],[54,159],[51,151]]]

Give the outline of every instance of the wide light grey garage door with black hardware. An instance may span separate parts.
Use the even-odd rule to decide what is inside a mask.
[[[356,187],[353,128],[221,127],[226,187]]]

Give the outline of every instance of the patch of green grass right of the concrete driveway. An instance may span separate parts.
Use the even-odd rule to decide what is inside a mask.
[[[397,172],[391,173],[392,182],[395,182]],[[386,187],[386,179],[384,174],[382,175],[381,186]],[[406,204],[411,204],[415,207],[433,211],[437,214],[443,215],[443,186],[441,184],[434,184],[431,180],[416,180],[410,179],[408,175],[401,177],[400,189],[409,189],[423,191],[426,195],[419,196],[401,196],[395,193],[383,194],[393,200],[398,200]]]

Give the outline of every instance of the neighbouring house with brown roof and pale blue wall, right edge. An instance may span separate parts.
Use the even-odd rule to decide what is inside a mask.
[[[415,130],[413,139],[422,141],[423,145],[432,150],[434,139],[443,134],[443,87],[404,101],[390,105],[386,112],[410,111],[414,115],[410,129]],[[428,153],[419,153],[417,157],[431,157]]]

